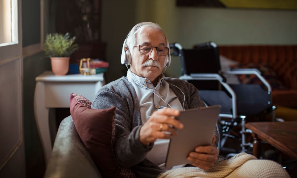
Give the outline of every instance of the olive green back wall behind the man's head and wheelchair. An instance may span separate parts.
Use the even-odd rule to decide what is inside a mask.
[[[101,35],[107,42],[110,62],[107,82],[126,75],[127,69],[120,63],[123,40],[136,23],[143,21],[158,23],[169,42],[178,42],[184,48],[207,41],[217,45],[297,44],[297,11],[293,10],[176,7],[173,0],[102,0],[102,8]],[[172,58],[165,74],[179,77],[178,57]]]

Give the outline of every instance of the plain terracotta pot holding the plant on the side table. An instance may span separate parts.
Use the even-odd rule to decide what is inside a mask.
[[[69,58],[50,58],[52,71],[55,75],[66,75],[69,70]]]

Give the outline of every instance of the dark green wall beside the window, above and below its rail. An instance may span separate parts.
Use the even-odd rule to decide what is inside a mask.
[[[44,30],[49,27],[49,2],[44,1]],[[27,0],[22,3],[23,47],[38,44],[40,38],[40,0]],[[34,117],[35,77],[50,70],[50,59],[40,51],[23,58],[23,124],[25,138],[26,177],[43,177],[44,155]]]

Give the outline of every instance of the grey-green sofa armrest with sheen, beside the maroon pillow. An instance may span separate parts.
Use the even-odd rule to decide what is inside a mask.
[[[59,126],[45,177],[102,177],[81,142],[71,116]]]

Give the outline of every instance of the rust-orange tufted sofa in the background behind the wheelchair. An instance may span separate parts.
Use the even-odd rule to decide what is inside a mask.
[[[218,49],[220,55],[238,62],[240,68],[255,67],[260,71],[270,71],[266,80],[271,81],[272,102],[277,106],[276,117],[286,121],[296,120],[297,45],[221,45]],[[244,77],[238,78],[254,82]]]

